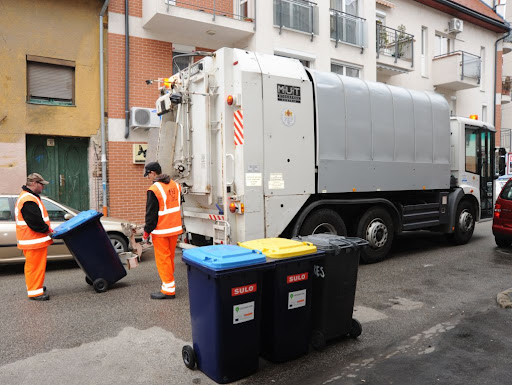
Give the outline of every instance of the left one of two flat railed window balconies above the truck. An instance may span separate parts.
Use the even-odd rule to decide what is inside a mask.
[[[306,0],[274,0],[274,26],[306,33],[313,40],[318,35],[318,7]]]

